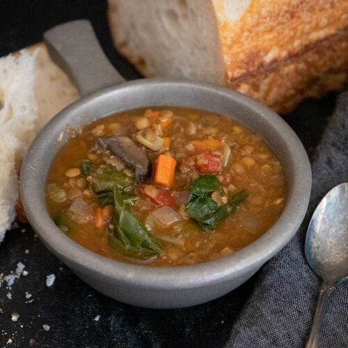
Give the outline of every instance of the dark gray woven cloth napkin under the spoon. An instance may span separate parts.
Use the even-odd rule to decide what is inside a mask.
[[[338,98],[311,164],[313,191],[306,218],[290,244],[258,272],[251,295],[232,327],[228,347],[295,348],[306,342],[319,279],[306,263],[303,245],[319,201],[335,185],[348,182],[348,92]],[[348,347],[348,281],[338,285],[333,294],[319,347]]]

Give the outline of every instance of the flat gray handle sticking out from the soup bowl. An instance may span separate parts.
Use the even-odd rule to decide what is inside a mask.
[[[81,96],[125,81],[106,58],[87,20],[67,22],[44,33],[54,63],[72,79]]]

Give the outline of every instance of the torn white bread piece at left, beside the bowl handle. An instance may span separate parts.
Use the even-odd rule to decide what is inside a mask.
[[[42,126],[77,98],[43,44],[0,58],[0,242],[15,219],[26,150]]]

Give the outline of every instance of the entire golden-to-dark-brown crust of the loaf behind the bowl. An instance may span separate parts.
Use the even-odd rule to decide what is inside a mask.
[[[230,88],[286,113],[348,81],[347,0],[251,0],[232,24],[212,1]]]

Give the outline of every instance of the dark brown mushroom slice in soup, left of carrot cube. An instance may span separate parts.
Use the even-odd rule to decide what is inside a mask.
[[[125,162],[135,172],[137,182],[145,182],[152,175],[152,165],[145,152],[128,136],[102,137],[100,142],[106,145],[111,153]]]

